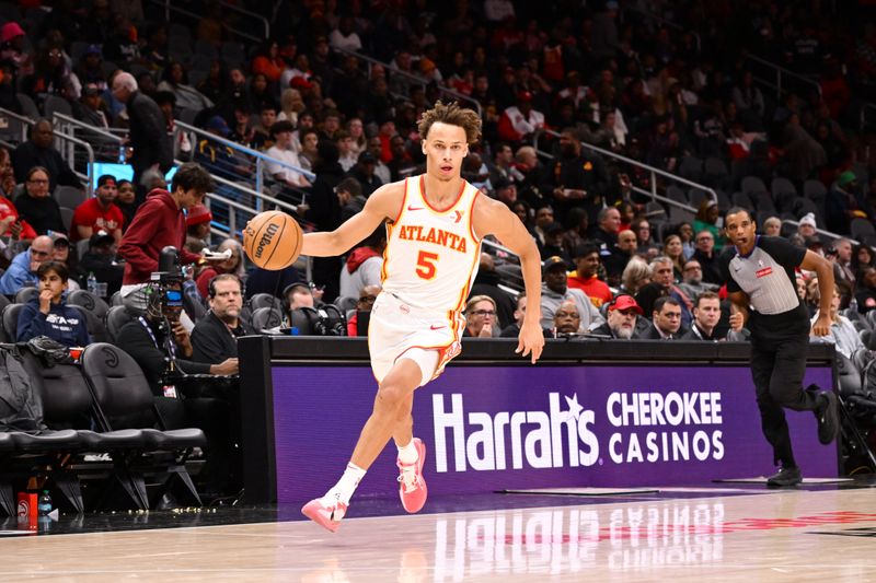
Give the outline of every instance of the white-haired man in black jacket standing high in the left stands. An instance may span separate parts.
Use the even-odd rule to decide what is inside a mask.
[[[134,167],[135,187],[139,187],[146,171],[158,170],[164,175],[171,170],[173,143],[161,109],[152,97],[138,91],[134,75],[118,73],[113,80],[113,96],[124,103],[128,112],[129,140],[134,151],[128,162]]]

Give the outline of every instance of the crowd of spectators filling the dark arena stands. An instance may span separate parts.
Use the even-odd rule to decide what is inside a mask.
[[[232,212],[238,231],[251,214],[204,196],[253,200],[197,168],[250,179],[254,160],[238,147],[264,152],[265,193],[292,205],[307,229],[332,230],[381,185],[423,171],[418,116],[438,98],[458,98],[480,108],[484,124],[463,176],[527,225],[544,276],[541,305],[528,306],[511,292],[514,261],[485,246],[465,336],[516,336],[525,311],[540,308],[551,338],[745,339],[729,325],[721,258],[733,253],[722,226],[736,205],[761,233],[831,259],[833,341],[862,349],[843,314],[860,322],[876,308],[876,132],[861,115],[876,101],[876,27],[855,18],[868,9],[484,0],[342,11],[285,0],[275,3],[270,38],[253,43],[233,33],[246,26],[240,14],[206,0],[178,3],[204,15],[192,26],[138,0],[24,4],[20,20],[0,25],[0,107],[47,114],[61,100],[90,126],[126,128],[132,178],[100,176],[94,197],[62,198],[84,185],[48,117],[0,148],[0,293],[39,290],[10,340],[92,340],[65,290],[100,290],[137,318],[118,331],[123,346],[157,397],[169,397],[168,354],[184,372],[233,375],[238,336],[300,330],[299,312],[315,308],[312,317],[324,319],[320,307],[337,306],[342,329],[364,335],[380,291],[383,230],[346,257],[313,260],[311,281],[296,267],[247,268],[239,232],[216,232],[228,231]],[[749,54],[811,82],[776,92]],[[203,130],[194,142],[175,131],[183,119]],[[710,190],[680,189],[593,145]],[[174,159],[196,165],[168,184]],[[166,245],[191,267],[180,290],[185,313],[162,328],[147,283]],[[207,261],[204,249],[226,255]],[[815,310],[811,273],[799,275],[799,291]],[[276,301],[258,303],[264,295]],[[267,312],[256,322],[260,310]],[[312,331],[320,323],[311,316]]]

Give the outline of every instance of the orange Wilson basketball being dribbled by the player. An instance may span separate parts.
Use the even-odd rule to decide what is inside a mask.
[[[260,212],[243,230],[243,250],[262,269],[289,267],[301,254],[303,243],[298,221],[278,210]]]

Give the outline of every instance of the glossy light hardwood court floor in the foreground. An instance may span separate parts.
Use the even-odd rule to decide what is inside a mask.
[[[18,536],[0,538],[0,581],[876,581],[874,493],[706,487],[533,508],[496,494],[500,510],[354,517],[334,535],[280,521]]]

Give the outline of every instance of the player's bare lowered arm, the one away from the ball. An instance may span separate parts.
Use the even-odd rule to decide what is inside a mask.
[[[527,232],[520,219],[502,202],[479,196],[472,209],[472,226],[477,236],[495,235],[503,245],[520,257],[527,305],[541,305],[541,257],[535,240]],[[516,350],[523,357],[531,353],[533,364],[544,348],[539,312],[527,310]]]

